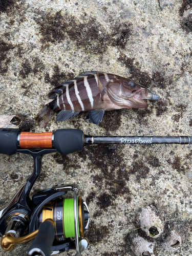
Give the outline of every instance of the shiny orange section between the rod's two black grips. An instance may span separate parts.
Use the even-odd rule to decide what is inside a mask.
[[[52,148],[52,134],[23,132],[19,138],[20,148]]]

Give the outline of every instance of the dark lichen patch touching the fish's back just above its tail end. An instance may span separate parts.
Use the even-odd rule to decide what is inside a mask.
[[[45,75],[45,82],[46,83],[51,83],[52,86],[56,87],[58,86],[60,83],[68,81],[70,79],[74,78],[74,74],[73,73],[64,73],[61,72],[59,69],[58,65],[55,65],[53,67],[53,75],[50,77],[49,73],[46,73]]]

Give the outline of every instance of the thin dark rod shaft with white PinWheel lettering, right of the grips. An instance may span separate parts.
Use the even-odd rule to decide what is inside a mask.
[[[84,144],[192,144],[191,136],[84,136]]]

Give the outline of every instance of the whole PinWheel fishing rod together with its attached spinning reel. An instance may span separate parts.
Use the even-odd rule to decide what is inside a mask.
[[[29,197],[40,175],[41,161],[45,154],[59,152],[67,155],[90,144],[154,143],[191,144],[192,137],[90,136],[76,129],[60,129],[46,133],[0,129],[0,154],[23,153],[31,155],[34,159],[32,175],[19,188],[9,204],[0,211],[2,248],[12,250],[16,244],[26,243],[35,236],[37,237],[28,250],[28,256],[49,256],[50,251],[56,254],[69,249],[76,249],[79,256],[89,245],[89,239],[84,236],[89,226],[89,209],[86,202],[80,196],[77,197],[77,185],[56,185],[38,191],[32,199]],[[73,192],[73,198],[65,198],[68,191]],[[53,220],[52,223],[50,219]]]

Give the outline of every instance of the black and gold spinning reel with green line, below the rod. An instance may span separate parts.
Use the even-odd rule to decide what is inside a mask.
[[[28,256],[49,256],[50,251],[51,254],[56,254],[69,249],[76,249],[77,255],[80,255],[89,245],[89,239],[84,236],[89,226],[89,209],[86,202],[80,196],[77,197],[77,185],[71,184],[56,185],[38,191],[30,199],[30,191],[41,172],[42,157],[57,150],[14,148],[14,152],[11,152],[10,144],[18,133],[16,129],[0,129],[0,138],[3,138],[0,152],[9,155],[14,152],[31,155],[34,159],[34,170],[9,204],[0,211],[2,248],[12,250],[16,244],[26,243],[37,236],[29,248]],[[4,140],[7,143],[4,143]],[[73,192],[73,198],[65,198],[68,191]]]

